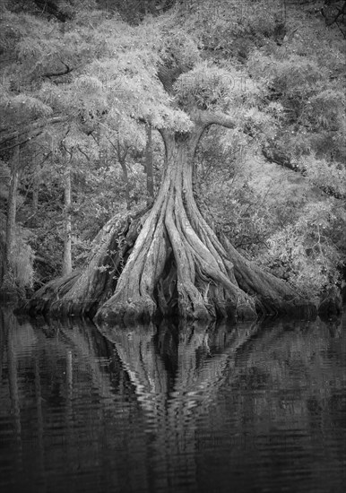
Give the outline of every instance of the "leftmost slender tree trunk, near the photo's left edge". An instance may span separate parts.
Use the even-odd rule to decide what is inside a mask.
[[[18,169],[20,159],[20,146],[14,148],[13,158],[11,160],[11,182],[7,200],[7,221],[6,221],[6,239],[4,245],[4,269],[3,282],[8,282],[8,275],[13,261],[13,244],[15,234],[15,216],[17,209],[17,189],[18,189]]]

